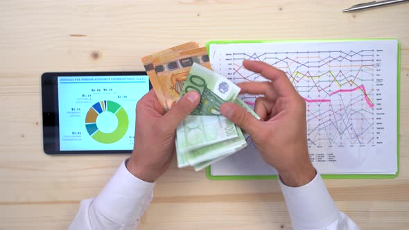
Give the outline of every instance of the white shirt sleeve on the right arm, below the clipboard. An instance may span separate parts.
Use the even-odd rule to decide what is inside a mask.
[[[279,184],[286,200],[293,229],[359,229],[354,221],[338,211],[318,172],[311,182],[301,187],[286,186],[280,178]]]

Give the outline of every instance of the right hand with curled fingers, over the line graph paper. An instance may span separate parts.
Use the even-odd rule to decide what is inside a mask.
[[[224,103],[221,114],[250,134],[263,159],[277,169],[284,184],[308,184],[316,172],[308,156],[304,98],[283,71],[249,60],[243,66],[271,80],[238,84],[241,94],[263,94],[256,98],[254,106],[261,120],[234,103]]]

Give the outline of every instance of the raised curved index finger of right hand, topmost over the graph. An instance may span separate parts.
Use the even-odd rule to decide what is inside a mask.
[[[245,60],[243,66],[245,69],[260,73],[264,78],[272,80],[272,84],[277,91],[277,94],[281,96],[290,96],[297,93],[286,74],[283,71],[270,66],[270,64]]]

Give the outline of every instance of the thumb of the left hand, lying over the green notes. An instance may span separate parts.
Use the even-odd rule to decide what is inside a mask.
[[[186,118],[200,102],[200,94],[197,91],[189,91],[163,116],[166,126],[175,130],[177,125]]]

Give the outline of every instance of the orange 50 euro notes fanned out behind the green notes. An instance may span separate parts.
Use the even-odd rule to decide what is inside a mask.
[[[179,98],[193,63],[211,69],[206,48],[198,47],[195,42],[142,57],[142,62],[156,96],[166,110],[171,109]]]

